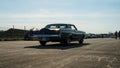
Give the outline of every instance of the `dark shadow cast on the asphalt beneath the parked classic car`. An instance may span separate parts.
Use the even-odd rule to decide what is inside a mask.
[[[83,44],[77,44],[77,43],[71,43],[71,45],[63,45],[63,44],[48,44],[45,46],[41,45],[32,45],[32,46],[26,46],[24,48],[35,48],[35,49],[71,49],[71,48],[78,48],[82,46],[90,45],[90,43],[83,43]]]

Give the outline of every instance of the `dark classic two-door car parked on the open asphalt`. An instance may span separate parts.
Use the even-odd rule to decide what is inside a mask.
[[[33,33],[32,37],[38,38],[41,45],[45,45],[49,41],[65,45],[70,45],[71,41],[79,41],[82,44],[85,32],[78,31],[73,24],[49,24]]]

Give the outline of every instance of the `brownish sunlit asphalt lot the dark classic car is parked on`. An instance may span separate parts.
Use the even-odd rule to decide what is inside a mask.
[[[120,40],[86,39],[83,45],[70,46],[3,41],[0,68],[120,68]]]

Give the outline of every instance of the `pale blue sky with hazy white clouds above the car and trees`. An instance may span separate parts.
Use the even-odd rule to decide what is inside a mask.
[[[0,0],[0,30],[72,23],[87,33],[120,30],[120,0]]]

